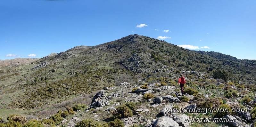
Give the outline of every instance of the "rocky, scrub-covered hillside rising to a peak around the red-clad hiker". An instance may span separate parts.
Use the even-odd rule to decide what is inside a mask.
[[[7,121],[7,117],[15,113],[27,119],[38,119],[40,124],[51,123],[51,126],[73,126],[87,118],[105,126],[114,122],[124,122],[125,126],[187,126],[182,123],[183,119],[195,116],[235,117],[239,118],[241,126],[253,125],[254,63],[254,60],[224,59],[154,38],[129,35],[97,46],[77,46],[19,68],[0,68],[5,68],[0,71],[0,116]],[[184,97],[180,96],[177,85],[180,74],[187,80]],[[185,113],[186,116],[168,113],[170,117],[161,117],[167,115],[160,113],[165,106],[190,105],[248,107],[250,111],[242,115],[233,112]],[[83,108],[72,112],[70,107]],[[123,113],[121,109],[128,112]],[[59,121],[63,117],[66,121]],[[163,124],[158,125],[158,121]],[[240,125],[239,122],[192,122],[190,126],[231,126]]]

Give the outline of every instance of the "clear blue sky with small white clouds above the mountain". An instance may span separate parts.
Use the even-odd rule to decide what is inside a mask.
[[[256,60],[255,0],[4,0],[0,59],[42,58],[131,34]]]

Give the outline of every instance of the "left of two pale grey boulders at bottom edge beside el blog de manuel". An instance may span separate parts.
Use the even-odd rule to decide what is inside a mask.
[[[179,124],[168,116],[162,116],[155,121],[154,127],[179,127]]]

